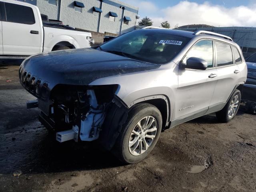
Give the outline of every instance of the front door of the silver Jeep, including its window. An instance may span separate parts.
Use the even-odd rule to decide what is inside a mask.
[[[206,70],[179,69],[178,90],[172,120],[180,123],[202,116],[207,112],[218,80],[217,70],[214,68],[212,40],[197,42],[186,54],[185,63],[190,57],[206,60],[208,68]]]

